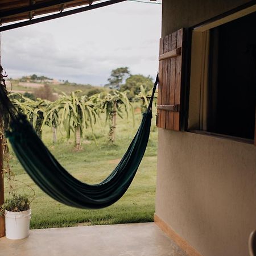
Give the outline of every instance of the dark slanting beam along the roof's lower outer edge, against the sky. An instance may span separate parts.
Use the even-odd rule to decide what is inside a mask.
[[[44,22],[46,20],[52,20],[52,19],[57,19],[57,18],[69,16],[69,15],[72,15],[72,14],[82,13],[84,11],[89,11],[89,10],[97,9],[97,8],[100,8],[100,7],[105,7],[105,6],[113,5],[114,3],[120,3],[120,2],[124,2],[124,1],[126,1],[126,0],[109,0],[109,1],[106,1],[106,2],[102,2],[102,3],[96,3],[95,5],[89,5],[89,6],[69,10],[69,11],[64,11],[64,12],[57,13],[57,14],[47,15],[47,16],[44,16],[44,17],[41,17],[41,18],[26,20],[24,22],[18,22],[18,23],[2,26],[2,27],[0,27],[0,32],[6,31],[6,30],[12,30],[12,29],[18,28],[18,27],[28,26],[28,25],[31,25],[31,24],[36,24],[36,23],[39,23],[39,22]],[[67,1],[67,2],[70,2],[70,1]]]

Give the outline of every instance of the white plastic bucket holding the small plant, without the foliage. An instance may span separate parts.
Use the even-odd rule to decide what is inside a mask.
[[[5,211],[5,235],[9,239],[22,239],[30,231],[31,210],[23,212]]]

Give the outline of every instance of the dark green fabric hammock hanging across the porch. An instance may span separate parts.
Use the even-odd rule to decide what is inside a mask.
[[[152,101],[157,84],[158,76],[147,112],[143,113],[141,125],[133,141],[118,166],[101,183],[82,183],[69,174],[43,144],[26,117],[14,114],[16,110],[1,86],[2,108],[10,113],[11,119],[7,137],[24,170],[53,199],[77,208],[108,207],[120,199],[129,188],[143,158],[150,134]]]

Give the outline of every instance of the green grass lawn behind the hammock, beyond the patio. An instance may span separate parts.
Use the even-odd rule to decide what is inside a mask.
[[[128,191],[115,204],[100,210],[84,210],[67,207],[51,199],[41,191],[24,172],[13,152],[10,164],[15,172],[16,191],[32,195],[26,183],[35,190],[35,199],[31,204],[31,228],[53,228],[77,225],[104,225],[128,222],[153,221],[155,212],[155,185],[156,185],[156,145],[157,129],[153,115],[150,140],[141,166]],[[43,129],[43,141],[52,151],[59,162],[77,179],[86,183],[98,183],[117,165],[131,140],[139,123],[141,113],[135,115],[135,126],[131,119],[117,119],[117,140],[114,144],[108,142],[108,126],[96,126],[97,144],[92,141],[90,131],[85,131],[82,149],[73,149],[73,140],[65,139],[64,131],[58,131],[58,142],[52,144],[52,133],[49,127]],[[102,121],[104,122],[104,121]],[[11,151],[11,149],[10,149]],[[8,196],[9,186],[5,180],[5,197]]]

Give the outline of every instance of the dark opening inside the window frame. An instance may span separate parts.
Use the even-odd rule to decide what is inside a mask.
[[[207,131],[254,139],[256,13],[210,30]]]

